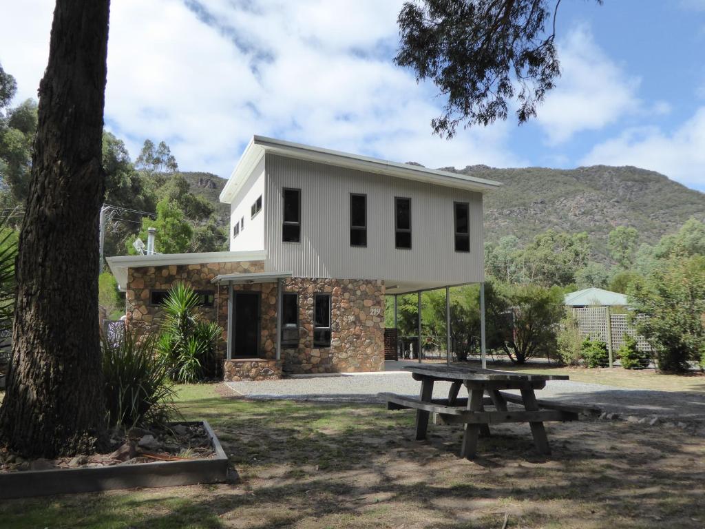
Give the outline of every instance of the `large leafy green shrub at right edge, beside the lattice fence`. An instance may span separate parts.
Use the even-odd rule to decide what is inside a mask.
[[[705,257],[673,254],[628,290],[637,332],[656,350],[658,369],[685,372],[705,344]]]

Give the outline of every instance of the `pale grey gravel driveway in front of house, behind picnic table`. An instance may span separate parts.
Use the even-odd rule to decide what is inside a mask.
[[[264,382],[228,382],[228,386],[250,399],[343,402],[379,402],[376,394],[384,391],[415,396],[420,388],[419,382],[412,379],[410,373],[395,372],[289,378]],[[450,383],[436,383],[434,398],[447,397],[448,389]],[[537,391],[537,397],[599,406],[608,412],[705,421],[705,395],[692,392],[626,389],[554,380],[547,382],[546,388]]]

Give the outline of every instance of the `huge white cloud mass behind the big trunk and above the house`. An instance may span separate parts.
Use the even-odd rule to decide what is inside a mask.
[[[400,5],[114,1],[107,127],[133,157],[145,138],[164,139],[183,169],[221,176],[254,133],[427,166],[522,163],[506,145],[513,123],[450,142],[431,135],[441,100],[391,62]],[[35,0],[3,10],[0,61],[23,94],[46,65],[52,9]]]

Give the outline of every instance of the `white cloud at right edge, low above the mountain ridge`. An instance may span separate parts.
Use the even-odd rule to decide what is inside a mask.
[[[596,145],[582,163],[645,167],[705,190],[705,107],[670,134],[653,126],[627,129]]]

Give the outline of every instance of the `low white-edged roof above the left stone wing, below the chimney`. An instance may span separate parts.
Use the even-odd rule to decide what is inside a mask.
[[[111,272],[118,281],[118,287],[127,288],[128,269],[141,267],[164,267],[168,265],[200,265],[209,262],[263,261],[264,250],[245,252],[204,252],[204,253],[164,253],[154,255],[120,255],[107,257]]]

